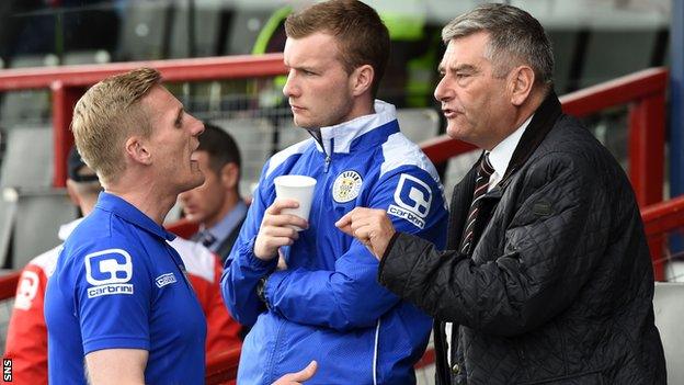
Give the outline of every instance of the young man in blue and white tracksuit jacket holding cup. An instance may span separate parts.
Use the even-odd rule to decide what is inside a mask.
[[[414,383],[432,320],[383,288],[377,260],[334,226],[372,206],[403,231],[444,244],[435,169],[399,132],[395,107],[374,101],[387,30],[369,7],[341,0],[292,15],[286,31],[284,93],[312,138],[266,162],[226,263],[226,303],[252,325],[238,383],[271,384],[309,360],[319,370],[307,384]],[[317,180],[308,222],[281,213],[296,206],[275,200],[273,180],[283,174]]]

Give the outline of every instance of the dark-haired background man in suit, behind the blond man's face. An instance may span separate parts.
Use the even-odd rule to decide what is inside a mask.
[[[179,197],[187,219],[200,224],[192,240],[202,242],[225,261],[247,215],[239,190],[240,150],[230,134],[205,123],[194,157],[204,173],[204,184]]]

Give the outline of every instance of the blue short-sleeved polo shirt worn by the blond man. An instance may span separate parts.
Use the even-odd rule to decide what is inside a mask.
[[[86,384],[83,359],[101,349],[147,350],[146,384],[204,383],[206,324],[173,237],[100,194],[47,284],[50,384]]]

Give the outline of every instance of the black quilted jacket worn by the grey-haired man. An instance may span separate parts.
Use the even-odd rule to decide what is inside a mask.
[[[449,250],[474,185],[475,169],[454,189]],[[438,320],[437,384],[664,384],[631,185],[555,94],[485,196],[472,256],[397,234],[380,263],[385,286]],[[447,365],[444,321],[460,325],[458,367]]]

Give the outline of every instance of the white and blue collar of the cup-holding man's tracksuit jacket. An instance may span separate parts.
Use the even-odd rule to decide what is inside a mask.
[[[396,122],[397,110],[394,105],[376,99],[374,107],[374,114],[358,116],[334,126],[321,127],[321,140],[320,143],[316,140],[316,148],[328,155],[349,154],[361,146],[375,147],[377,144],[385,141],[387,135],[381,135],[377,140],[369,140],[368,137],[364,138],[364,140],[355,140],[375,128],[392,126],[389,128],[390,133],[399,131]]]

